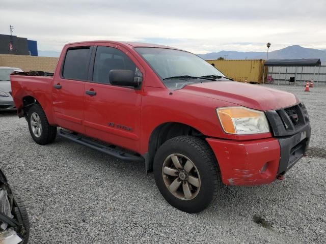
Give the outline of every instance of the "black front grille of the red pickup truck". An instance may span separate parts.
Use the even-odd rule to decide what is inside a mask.
[[[303,103],[265,113],[274,136],[293,135],[309,123],[309,116]]]

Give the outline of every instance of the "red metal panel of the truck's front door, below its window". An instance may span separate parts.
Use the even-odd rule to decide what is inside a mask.
[[[85,96],[86,135],[139,151],[142,92],[126,87],[86,83],[85,90],[92,89],[96,96]],[[127,126],[132,130],[112,128],[108,123]]]

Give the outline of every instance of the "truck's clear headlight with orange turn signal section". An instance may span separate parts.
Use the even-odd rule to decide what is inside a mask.
[[[269,132],[265,113],[245,107],[216,108],[223,130],[229,134],[248,135]]]

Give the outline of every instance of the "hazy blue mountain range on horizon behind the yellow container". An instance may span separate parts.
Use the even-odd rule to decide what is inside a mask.
[[[266,52],[237,52],[221,51],[206,54],[197,54],[204,59],[216,59],[227,56],[227,59],[266,59]],[[321,62],[326,62],[326,50],[305,48],[299,45],[288,46],[280,50],[268,53],[268,59],[291,59],[291,58],[320,58]]]

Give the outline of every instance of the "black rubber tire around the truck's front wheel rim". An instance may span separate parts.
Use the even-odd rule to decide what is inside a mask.
[[[165,160],[172,154],[181,154],[193,162],[200,175],[200,190],[191,200],[173,195],[162,175]],[[188,212],[200,212],[214,203],[221,192],[222,180],[215,155],[206,141],[194,136],[178,136],[162,144],[154,158],[156,185],[164,198],[174,207]],[[169,177],[169,176],[168,176]]]

